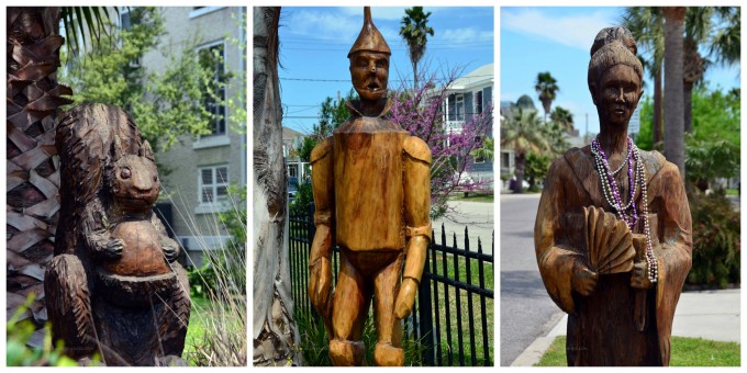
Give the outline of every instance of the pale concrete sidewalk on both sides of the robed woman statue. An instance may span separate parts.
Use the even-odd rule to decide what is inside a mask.
[[[682,293],[674,312],[672,336],[740,343],[739,297],[739,289]],[[568,315],[565,315],[547,336],[532,342],[511,366],[537,363],[555,338],[566,335],[567,321]]]

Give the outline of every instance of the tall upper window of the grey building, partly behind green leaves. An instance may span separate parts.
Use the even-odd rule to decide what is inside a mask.
[[[209,125],[211,134],[208,136],[225,135],[225,102],[226,81],[228,76],[225,72],[225,50],[223,42],[213,44],[198,50],[200,65],[208,68],[213,74],[213,79],[204,88],[201,103],[212,114]]]

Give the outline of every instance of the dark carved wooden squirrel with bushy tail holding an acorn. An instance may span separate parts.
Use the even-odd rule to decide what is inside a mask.
[[[189,283],[152,207],[159,180],[147,142],[118,106],[74,108],[57,127],[59,226],[44,280],[53,337],[108,365],[175,361]]]

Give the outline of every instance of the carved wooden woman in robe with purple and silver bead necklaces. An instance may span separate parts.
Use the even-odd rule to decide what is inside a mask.
[[[636,43],[602,30],[589,63],[600,134],[550,166],[534,242],[545,287],[568,315],[568,365],[668,365],[674,307],[692,263],[678,168],[636,148]]]

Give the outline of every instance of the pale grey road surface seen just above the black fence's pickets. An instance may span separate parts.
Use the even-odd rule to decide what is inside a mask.
[[[441,226],[443,224],[446,230],[446,244],[454,246],[454,235],[456,235],[457,247],[464,249],[465,227],[467,227],[469,250],[477,251],[477,238],[479,237],[482,242],[482,252],[490,253],[493,231],[495,230],[494,204],[490,202],[449,201],[448,205],[454,210],[449,217],[433,222],[436,244],[442,244]]]

